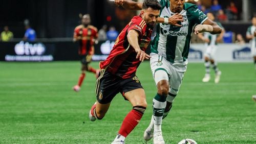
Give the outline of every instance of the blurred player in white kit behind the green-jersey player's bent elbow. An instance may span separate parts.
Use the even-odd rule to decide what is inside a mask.
[[[210,20],[214,21],[215,16],[212,13],[207,13],[207,16]],[[219,70],[217,66],[217,62],[215,60],[215,52],[217,50],[217,42],[221,42],[223,38],[223,34],[225,33],[224,28],[222,27],[220,22],[217,22],[217,24],[222,28],[222,32],[219,35],[214,35],[210,33],[199,33],[198,37],[202,39],[205,42],[206,51],[204,54],[204,66],[205,66],[205,72],[203,82],[208,82],[210,80],[210,64],[212,66],[212,69],[215,71],[215,83],[219,83],[221,71]]]

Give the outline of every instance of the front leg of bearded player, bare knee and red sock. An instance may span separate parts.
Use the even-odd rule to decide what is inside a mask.
[[[122,143],[127,135],[138,125],[147,107],[143,88],[134,89],[124,93],[125,99],[131,102],[133,109],[125,116],[118,134],[112,143]]]

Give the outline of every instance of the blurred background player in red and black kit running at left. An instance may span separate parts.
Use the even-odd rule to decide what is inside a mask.
[[[81,25],[77,26],[74,30],[73,41],[79,42],[78,55],[81,61],[81,74],[78,79],[77,85],[73,87],[73,90],[78,92],[82,85],[83,79],[86,77],[86,71],[94,73],[97,77],[99,70],[89,66],[94,55],[94,43],[98,38],[98,30],[96,27],[90,25],[91,17],[89,14],[82,16]]]

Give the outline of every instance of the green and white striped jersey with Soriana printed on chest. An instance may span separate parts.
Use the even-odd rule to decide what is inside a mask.
[[[162,5],[160,17],[167,18],[175,14],[170,11],[168,0],[159,0],[159,3]],[[157,34],[151,43],[151,53],[161,55],[172,63],[183,63],[187,60],[193,27],[208,18],[196,5],[190,3],[184,3],[180,14],[184,20],[179,23],[182,27],[158,23]]]

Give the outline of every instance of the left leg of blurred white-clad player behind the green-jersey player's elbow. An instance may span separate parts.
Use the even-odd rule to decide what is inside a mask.
[[[210,80],[210,62],[209,62],[210,52],[211,52],[211,47],[208,46],[204,54],[205,75],[204,75],[204,78],[202,79],[203,82],[208,82]]]

